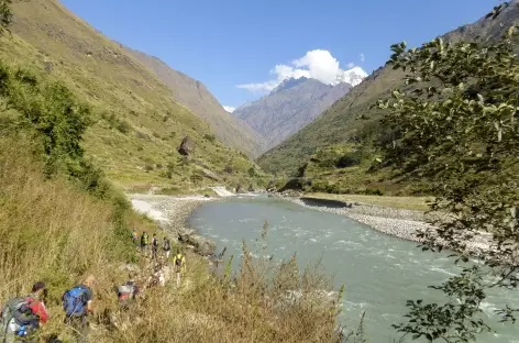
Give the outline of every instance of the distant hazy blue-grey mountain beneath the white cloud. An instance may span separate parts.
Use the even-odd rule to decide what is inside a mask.
[[[343,76],[341,76],[343,77]],[[270,148],[291,136],[343,97],[352,85],[325,85],[312,78],[288,78],[269,95],[234,111]]]

